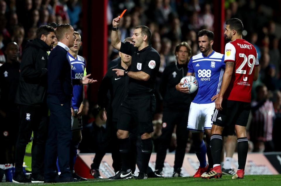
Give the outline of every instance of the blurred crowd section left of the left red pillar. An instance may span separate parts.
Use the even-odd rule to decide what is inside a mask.
[[[36,37],[36,30],[48,23],[69,23],[81,31],[78,0],[0,0],[0,63],[10,42],[19,46],[19,61],[25,44]]]

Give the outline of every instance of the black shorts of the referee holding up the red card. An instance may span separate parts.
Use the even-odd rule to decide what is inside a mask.
[[[132,131],[137,128],[139,134],[153,132],[153,113],[156,108],[156,100],[153,94],[128,95],[121,105],[117,129]]]

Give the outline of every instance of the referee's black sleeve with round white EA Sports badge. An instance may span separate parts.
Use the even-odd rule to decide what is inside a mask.
[[[144,66],[142,67],[142,71],[151,76],[155,70],[157,70],[158,72],[159,67],[160,67],[159,54],[157,52],[150,52],[145,58],[145,63]]]

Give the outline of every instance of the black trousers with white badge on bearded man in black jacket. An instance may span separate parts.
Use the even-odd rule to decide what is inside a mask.
[[[32,141],[32,173],[44,173],[44,151],[48,128],[48,108],[47,106],[27,106],[20,105],[20,127],[16,143],[16,172],[23,171],[23,158],[25,148]]]

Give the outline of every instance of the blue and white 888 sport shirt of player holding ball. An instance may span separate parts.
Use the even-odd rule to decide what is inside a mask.
[[[220,92],[225,71],[224,55],[215,51],[207,57],[202,53],[197,54],[189,60],[188,69],[188,72],[195,73],[198,81],[198,93],[192,102],[212,103],[211,98]]]

